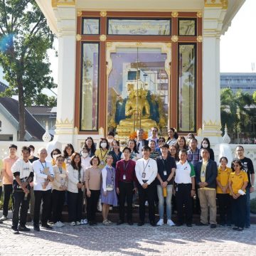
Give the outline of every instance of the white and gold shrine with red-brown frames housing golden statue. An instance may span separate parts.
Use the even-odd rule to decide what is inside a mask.
[[[243,0],[36,1],[59,43],[55,142],[151,126],[221,141],[220,35]]]

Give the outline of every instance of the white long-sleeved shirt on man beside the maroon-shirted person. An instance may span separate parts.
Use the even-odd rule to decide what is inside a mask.
[[[146,176],[142,178],[142,173],[145,172]],[[154,181],[157,175],[157,164],[154,159],[139,159],[136,162],[135,173],[137,179],[141,185],[143,185],[143,181],[146,181],[149,185]],[[143,180],[143,181],[142,181]]]

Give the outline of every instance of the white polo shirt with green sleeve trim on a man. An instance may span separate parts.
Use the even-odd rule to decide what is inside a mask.
[[[194,170],[191,172],[191,165],[188,164],[188,161],[186,161],[184,164],[181,164],[179,161],[176,164],[176,174],[174,181],[178,184],[181,183],[191,183],[191,177],[194,177],[195,173]]]

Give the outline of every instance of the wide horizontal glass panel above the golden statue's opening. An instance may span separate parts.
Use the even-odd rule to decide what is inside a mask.
[[[171,20],[108,20],[109,35],[141,35],[141,36],[168,36],[171,35]]]

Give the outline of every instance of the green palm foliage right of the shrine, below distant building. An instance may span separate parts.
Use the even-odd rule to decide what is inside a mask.
[[[247,126],[255,116],[252,95],[239,90],[234,93],[230,88],[220,92],[220,117],[222,130],[227,124],[228,132],[235,138],[241,132],[247,131]]]

